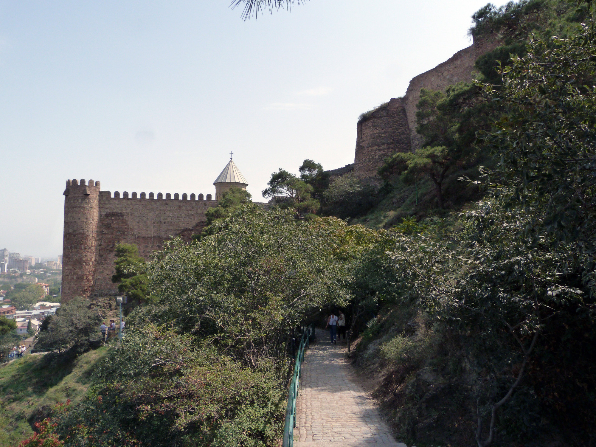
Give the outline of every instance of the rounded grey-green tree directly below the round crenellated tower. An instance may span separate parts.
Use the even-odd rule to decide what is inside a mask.
[[[101,340],[101,316],[88,299],[74,297],[49,315],[39,328],[36,349],[76,355]]]

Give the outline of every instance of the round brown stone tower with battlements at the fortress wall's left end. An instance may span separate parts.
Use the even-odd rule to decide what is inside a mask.
[[[100,182],[68,180],[64,190],[62,296],[88,297],[94,284]]]

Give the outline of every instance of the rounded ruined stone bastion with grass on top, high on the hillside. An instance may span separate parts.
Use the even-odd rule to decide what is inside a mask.
[[[404,102],[402,98],[392,98],[369,117],[358,121],[354,172],[359,177],[374,177],[387,157],[409,150],[410,135]]]

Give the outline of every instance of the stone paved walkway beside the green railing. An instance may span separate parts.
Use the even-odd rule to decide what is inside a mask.
[[[374,401],[352,380],[346,345],[331,344],[328,331],[317,330],[316,337],[302,365],[294,446],[406,447],[395,442]]]

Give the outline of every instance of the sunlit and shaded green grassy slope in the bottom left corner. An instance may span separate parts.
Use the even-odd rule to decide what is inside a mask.
[[[42,355],[29,355],[0,368],[0,447],[29,437],[30,422],[57,402],[80,401],[94,365],[107,347],[86,352],[66,365],[48,367]]]

